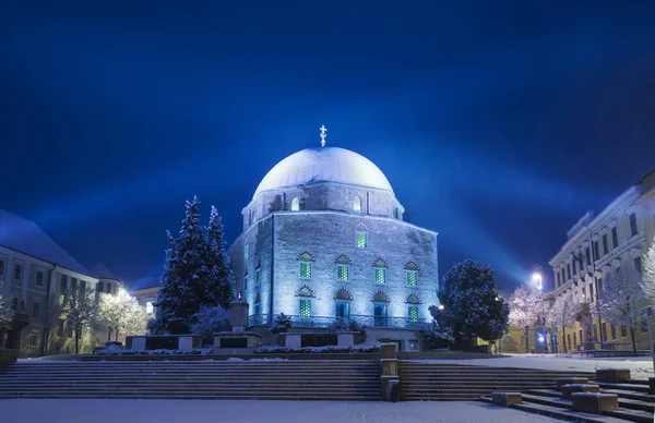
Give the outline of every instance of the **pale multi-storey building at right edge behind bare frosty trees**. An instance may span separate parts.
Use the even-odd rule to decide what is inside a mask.
[[[573,291],[585,307],[593,307],[598,290],[621,267],[642,270],[643,255],[655,234],[655,170],[615,198],[603,211],[585,214],[567,233],[568,240],[549,262],[555,276],[555,300]],[[630,342],[626,328],[614,327],[596,318],[583,327],[567,329],[568,349],[592,348],[595,342]],[[648,346],[650,323],[644,319],[638,331],[641,348]],[[561,341],[561,330],[559,335]],[[552,341],[552,340],[551,340]]]

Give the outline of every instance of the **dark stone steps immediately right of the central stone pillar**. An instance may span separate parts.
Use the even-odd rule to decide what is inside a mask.
[[[552,388],[560,377],[593,374],[534,368],[487,367],[479,365],[431,364],[400,361],[401,400],[471,401],[493,391]]]

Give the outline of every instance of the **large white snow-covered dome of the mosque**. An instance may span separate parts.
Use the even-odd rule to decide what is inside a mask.
[[[371,160],[349,149],[321,147],[294,153],[275,165],[252,197],[263,191],[313,182],[345,183],[386,190],[393,194],[389,180]]]

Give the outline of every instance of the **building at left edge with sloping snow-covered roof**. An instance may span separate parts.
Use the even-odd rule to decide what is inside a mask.
[[[74,352],[73,328],[56,304],[87,288],[116,293],[119,285],[106,267],[86,269],[34,222],[0,209],[0,293],[15,310],[7,339],[0,337],[7,348],[21,356]],[[106,330],[87,330],[80,351],[106,339]]]

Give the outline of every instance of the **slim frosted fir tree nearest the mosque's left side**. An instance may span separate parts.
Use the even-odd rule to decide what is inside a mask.
[[[225,239],[223,235],[223,223],[218,210],[212,206],[210,214],[210,225],[206,228],[207,244],[207,267],[211,269],[210,279],[205,286],[207,302],[203,305],[219,305],[228,309],[229,302],[234,299],[235,276],[229,262],[229,256],[225,251]]]

